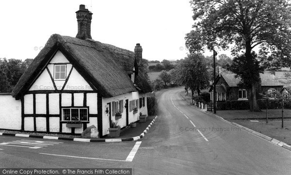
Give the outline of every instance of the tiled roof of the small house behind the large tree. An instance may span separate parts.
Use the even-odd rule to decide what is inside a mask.
[[[230,87],[238,86],[238,83],[241,81],[240,78],[235,78],[235,74],[231,72],[221,72],[221,76],[226,80],[226,83]],[[284,83],[279,82],[275,75],[271,74],[271,72],[264,72],[263,74],[259,74],[261,79],[261,86],[283,86]]]

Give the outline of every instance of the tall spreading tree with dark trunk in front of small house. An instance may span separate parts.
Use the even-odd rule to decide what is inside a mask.
[[[289,65],[291,58],[291,5],[287,0],[192,0],[194,30],[186,34],[190,52],[203,51],[205,46],[229,49],[242,59],[246,74],[253,81],[245,84],[249,92],[250,111],[260,111],[256,87],[260,81],[260,64],[252,50],[259,46],[259,56],[280,65]],[[241,54],[244,56],[241,56]],[[257,67],[256,67],[257,66]],[[238,74],[237,74],[238,75]],[[241,77],[241,75],[238,75]],[[244,79],[242,76],[241,78]]]

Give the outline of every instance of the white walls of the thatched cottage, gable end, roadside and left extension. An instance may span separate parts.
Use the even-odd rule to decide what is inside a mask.
[[[55,71],[56,67],[64,70]],[[64,77],[57,79],[60,74]],[[121,117],[118,118],[115,117],[117,109],[113,109],[116,102],[122,102],[119,104]],[[106,113],[107,104],[111,106],[111,115]],[[147,115],[146,94],[138,91],[102,97],[60,50],[19,100],[9,93],[2,93],[0,105],[0,129],[81,134],[87,127],[95,125],[101,137],[109,134],[110,118],[120,127],[126,127],[139,120],[140,112]],[[133,111],[134,105],[137,111]],[[64,120],[64,109],[87,109],[87,120],[81,121],[81,128],[66,127],[68,121]]]

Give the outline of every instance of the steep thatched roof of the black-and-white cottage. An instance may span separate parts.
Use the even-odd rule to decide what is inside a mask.
[[[18,98],[29,90],[57,50],[60,50],[82,77],[104,97],[137,91],[134,84],[143,93],[151,91],[141,73],[137,74],[134,83],[130,79],[133,66],[137,66],[134,52],[92,39],[81,40],[53,34],[19,79],[12,91],[14,97]]]

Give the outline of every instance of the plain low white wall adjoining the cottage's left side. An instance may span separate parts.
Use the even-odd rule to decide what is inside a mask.
[[[0,94],[0,128],[21,129],[21,101],[9,94]]]

